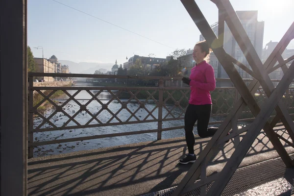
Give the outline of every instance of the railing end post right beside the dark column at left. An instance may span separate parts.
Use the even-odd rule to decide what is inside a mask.
[[[34,119],[33,119],[33,77],[28,77],[28,144],[32,144],[34,142]],[[33,158],[34,156],[34,147],[28,147],[28,158]]]

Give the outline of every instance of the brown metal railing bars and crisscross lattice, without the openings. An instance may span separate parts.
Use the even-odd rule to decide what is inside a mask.
[[[98,138],[106,138],[106,137],[116,137],[116,136],[125,136],[125,135],[134,135],[134,134],[142,134],[142,133],[152,133],[152,132],[157,132],[157,139],[160,140],[161,139],[161,133],[163,131],[167,131],[167,130],[175,130],[178,129],[179,127],[183,128],[182,126],[173,126],[173,127],[169,127],[169,128],[163,128],[161,126],[162,122],[167,122],[167,121],[175,121],[175,120],[183,120],[184,117],[182,116],[185,112],[185,107],[184,105],[187,104],[188,102],[188,95],[190,91],[189,87],[166,87],[163,85],[163,81],[164,80],[169,80],[171,78],[173,79],[177,79],[180,77],[160,77],[160,76],[145,76],[145,77],[139,77],[139,76],[119,76],[119,75],[95,75],[95,74],[68,74],[68,73],[29,73],[28,74],[28,79],[29,79],[29,130],[28,130],[28,134],[29,134],[29,157],[33,156],[33,147],[35,146],[42,146],[42,145],[47,145],[47,144],[58,144],[58,143],[62,143],[62,142],[69,142],[69,141],[79,141],[79,140],[91,140],[91,139],[98,139]],[[137,79],[158,79],[159,80],[159,86],[151,86],[151,87],[145,87],[145,86],[135,86],[135,87],[99,87],[99,86],[91,86],[91,87],[82,87],[82,86],[72,86],[72,87],[68,87],[68,86],[64,86],[64,87],[48,87],[48,86],[34,86],[33,85],[33,76],[36,75],[46,75],[46,76],[58,76],[58,77],[62,77],[62,76],[74,76],[74,77],[103,77],[103,78],[137,78]],[[217,81],[222,80],[222,81],[228,81],[230,79],[228,78],[216,78]],[[245,81],[250,81],[252,79],[245,79]],[[273,80],[273,81],[279,81],[279,80]],[[292,102],[293,100],[293,96],[294,96],[294,87],[289,87],[289,90],[286,92],[285,98],[287,99],[287,101],[289,102],[289,110],[293,110],[294,109],[294,104]],[[67,91],[76,91],[77,94],[81,91],[85,91],[88,92],[90,95],[90,98],[87,100],[89,102],[87,102],[86,104],[84,103],[79,103],[78,102],[78,98],[75,98],[74,95],[70,95]],[[91,91],[96,90],[96,94],[91,93]],[[57,105],[56,102],[53,101],[52,98],[50,98],[50,96],[52,96],[55,92],[57,91],[63,91],[67,96],[69,96],[69,98],[67,100],[65,100],[64,104],[62,105]],[[112,92],[115,91],[115,92]],[[137,98],[137,93],[140,92],[145,92],[145,96],[147,95],[147,97],[145,98]],[[46,93],[48,92],[48,93]],[[50,93],[49,93],[50,92]],[[101,92],[108,92],[111,95],[111,98],[109,99],[108,103],[105,102],[101,102],[102,99],[98,98],[98,95]],[[120,93],[125,92],[125,93],[129,93],[129,97],[120,97]],[[155,96],[155,93],[158,93]],[[41,100],[40,102],[38,102],[37,104],[33,104],[33,98],[34,96],[38,95]],[[177,95],[176,95],[177,94]],[[258,99],[258,101],[263,101],[264,96],[263,96],[263,90],[262,88],[259,88],[259,90],[256,92],[256,98]],[[235,102],[239,95],[238,95],[238,91],[235,87],[217,87],[213,92],[211,92],[212,95],[212,102],[213,102],[213,112],[212,112],[212,117],[221,117],[221,116],[225,116],[228,114],[228,112],[230,111],[230,107],[233,104],[233,102]],[[177,98],[176,98],[177,97]],[[149,102],[148,100],[152,101],[152,103],[154,104],[154,108],[153,110],[151,109],[147,109],[146,108],[146,104]],[[169,100],[170,102],[167,102],[167,100]],[[184,105],[181,105],[181,101],[185,101]],[[43,116],[42,114],[40,114],[37,110],[37,108],[42,104],[45,103],[46,101],[48,101],[52,106],[54,106],[56,109],[55,111],[52,113],[52,115],[50,115],[51,117],[53,117],[57,112],[62,112],[65,116],[67,116],[69,118],[69,120],[67,122],[65,122],[65,124],[60,125],[60,124],[54,124],[52,122],[50,122],[51,117],[50,116]],[[89,122],[87,122],[86,124],[79,124],[78,122],[75,121],[75,116],[76,115],[69,115],[68,111],[64,110],[63,107],[69,103],[69,101],[74,101],[74,104],[76,104],[76,106],[79,108],[79,111],[85,111],[87,113],[87,115],[89,114],[91,116],[91,119],[89,120]],[[96,111],[97,113],[91,113],[91,111],[88,110],[87,105],[90,104],[91,101],[98,101],[101,105],[101,107],[99,107],[99,109]],[[108,104],[111,103],[112,101],[116,101],[118,103],[121,104],[121,109],[128,109],[127,104],[130,103],[131,101],[136,101],[139,105],[140,108],[145,109],[145,112],[147,112],[147,116],[152,117],[147,119],[138,119],[136,112],[132,112],[131,115],[137,119],[137,121],[133,122],[133,121],[129,121],[128,120],[123,120],[120,119],[120,121],[118,122],[111,122],[111,120],[109,120],[109,122],[106,123],[102,123],[99,120],[99,113],[102,112],[103,110],[107,110],[108,112],[111,112],[108,108]],[[167,104],[169,103],[169,104]],[[172,109],[168,108],[171,106],[172,103]],[[174,108],[178,108],[177,110],[179,111],[179,114],[172,114],[172,110]],[[112,119],[116,118],[116,115],[120,113],[121,109],[112,114]],[[158,109],[159,110],[165,110],[166,113],[163,114],[162,112],[158,113],[158,114],[153,114],[154,109]],[[78,113],[79,111],[75,111],[76,113]],[[38,124],[37,126],[33,126],[33,115],[37,114],[39,117],[41,117],[41,119],[43,119],[43,122]],[[250,112],[249,111],[244,111],[243,114],[245,115],[244,117],[242,117],[242,119],[238,119],[238,122],[246,122],[246,121],[251,121],[254,118],[251,118],[250,116]],[[153,116],[154,115],[154,116]],[[170,115],[170,116],[169,116]],[[249,115],[249,116],[248,116]],[[292,114],[293,116],[294,114]],[[92,121],[97,121],[98,123],[92,123]],[[76,125],[72,125],[69,124],[70,122],[74,122]],[[35,132],[47,132],[47,131],[57,131],[57,130],[67,130],[67,129],[76,129],[76,128],[87,128],[87,127],[102,127],[102,126],[114,126],[114,125],[123,125],[123,124],[140,124],[140,123],[157,123],[158,127],[157,129],[152,129],[152,130],[138,130],[138,131],[132,131],[132,132],[121,132],[121,133],[114,133],[114,134],[103,134],[103,135],[93,135],[93,136],[86,136],[86,137],[77,137],[77,138],[68,138],[68,139],[62,139],[62,140],[50,140],[50,141],[42,141],[42,142],[34,142],[34,137],[33,134]],[[45,123],[49,123],[50,125],[52,125],[51,127],[42,127]],[[221,123],[221,121],[218,122],[210,122],[209,124],[219,124]]]

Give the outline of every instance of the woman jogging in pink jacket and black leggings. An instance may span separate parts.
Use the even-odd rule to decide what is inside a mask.
[[[181,164],[194,163],[196,155],[194,153],[195,136],[193,127],[197,121],[197,131],[201,138],[213,136],[218,130],[216,127],[209,127],[209,118],[212,109],[210,91],[216,88],[214,69],[204,58],[210,53],[208,44],[199,42],[193,49],[193,58],[196,66],[192,68],[190,78],[183,77],[184,83],[190,85],[191,94],[189,105],[185,113],[185,136],[189,154],[180,160]]]

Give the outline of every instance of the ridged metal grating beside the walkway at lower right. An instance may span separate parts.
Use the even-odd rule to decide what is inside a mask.
[[[294,155],[291,155],[291,158],[293,159]],[[238,169],[230,179],[221,196],[250,196],[252,193],[267,195],[268,190],[271,190],[271,195],[274,196],[291,196],[294,193],[293,179],[294,168],[286,168],[281,158],[271,159]],[[285,182],[288,182],[288,186],[285,186]],[[212,184],[207,184],[206,191],[209,190]],[[291,187],[289,184],[291,184]],[[273,187],[281,188],[272,191]],[[144,196],[171,196],[175,188],[172,187]],[[185,196],[200,196],[200,188],[188,192]]]

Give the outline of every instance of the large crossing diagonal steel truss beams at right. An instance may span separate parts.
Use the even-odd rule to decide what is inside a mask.
[[[294,23],[285,33],[276,48],[272,51],[264,65],[262,65],[229,0],[212,0],[219,8],[219,38],[217,38],[214,34],[194,0],[181,1],[201,34],[206,39],[207,43],[211,46],[215,55],[219,59],[219,62],[223,65],[224,70],[236,86],[241,98],[236,102],[230,114],[221,124],[219,130],[200,153],[196,162],[174,190],[172,196],[183,195],[198,187],[201,188],[201,195],[206,195],[206,184],[212,181],[214,181],[214,184],[209,189],[207,195],[220,195],[262,128],[265,130],[270,142],[281,156],[285,165],[287,167],[292,167],[292,160],[279,140],[278,135],[273,131],[273,127],[279,120],[281,120],[292,140],[294,139],[294,123],[287,111],[287,107],[282,101],[280,101],[280,98],[284,95],[286,89],[294,79],[294,63],[292,63],[288,69],[287,66],[284,65],[286,61],[281,59],[280,56],[294,37]],[[253,73],[255,76],[255,79],[249,84],[248,87],[245,85],[240,74],[237,72],[233,64],[234,59],[223,49],[224,21],[229,26],[234,38],[244,52],[245,57],[253,70],[253,72],[249,72],[247,70],[248,73],[251,73],[251,75]],[[279,66],[282,67],[285,75],[278,86],[274,88],[268,73],[272,70],[277,60],[279,61]],[[234,63],[236,63],[236,61]],[[243,66],[241,65],[241,67]],[[266,104],[264,104],[262,108],[260,108],[253,97],[253,94],[257,91],[260,84],[269,97]],[[206,165],[214,157],[215,152],[218,150],[217,147],[221,144],[220,142],[224,140],[224,137],[231,130],[231,128],[233,131],[238,131],[236,120],[245,109],[245,106],[249,107],[256,119],[248,128],[247,133],[242,140],[242,145],[238,145],[236,147],[233,155],[220,173],[214,175],[214,177],[206,177]],[[272,122],[269,123],[268,118],[274,109],[277,111],[277,115]],[[239,131],[239,133],[241,133],[241,131]],[[199,176],[201,176],[201,179],[197,184],[195,184],[195,181],[199,178]]]

